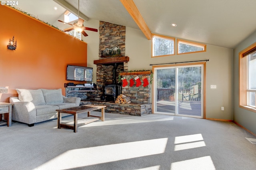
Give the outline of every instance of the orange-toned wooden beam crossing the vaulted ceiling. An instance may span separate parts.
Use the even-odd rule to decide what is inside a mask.
[[[120,0],[130,16],[132,16],[133,20],[139,26],[140,30],[146,36],[148,40],[151,40],[151,31],[148,28],[148,25],[144,21],[140,11],[138,10],[137,6],[134,4],[133,0]]]

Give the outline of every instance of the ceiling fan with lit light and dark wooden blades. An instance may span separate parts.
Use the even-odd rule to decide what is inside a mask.
[[[84,24],[83,24],[84,20],[82,18],[79,18],[79,0],[78,0],[78,21],[75,21],[73,25],[70,23],[61,21],[61,20],[58,20],[58,21],[73,26],[71,28],[64,29],[64,32],[69,32],[71,30],[75,30],[76,32],[82,33],[85,37],[88,36],[88,34],[86,34],[86,32],[84,32],[84,30],[98,32],[98,30],[95,28],[84,27]]]

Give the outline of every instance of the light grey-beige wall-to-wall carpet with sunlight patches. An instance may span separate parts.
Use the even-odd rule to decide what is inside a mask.
[[[93,112],[100,115],[100,112]],[[86,114],[79,115],[86,117]],[[72,119],[72,116],[66,117]],[[106,113],[78,132],[57,121],[0,127],[1,170],[254,170],[256,138],[231,122]]]

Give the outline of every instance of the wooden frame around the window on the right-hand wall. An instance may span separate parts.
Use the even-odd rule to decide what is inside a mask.
[[[247,105],[247,92],[255,90],[248,89],[248,59],[244,55],[254,48],[256,42],[239,53],[239,107],[256,113],[255,107]]]

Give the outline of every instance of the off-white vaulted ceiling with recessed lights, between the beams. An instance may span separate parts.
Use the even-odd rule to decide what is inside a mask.
[[[65,11],[61,6],[72,12],[78,9],[78,0],[18,2],[20,9],[50,24]],[[256,0],[134,0],[134,3],[156,34],[234,48],[256,30]],[[80,0],[82,14],[88,19],[139,29],[120,0]],[[177,27],[170,26],[171,23]]]

